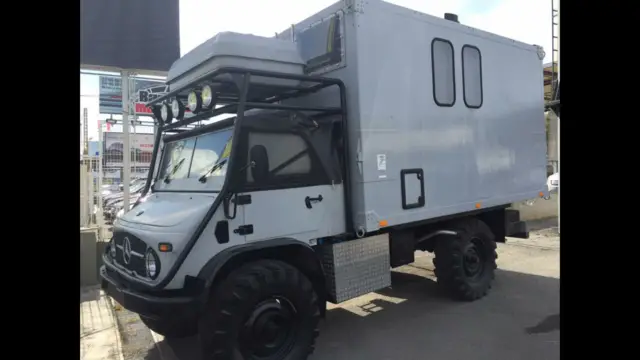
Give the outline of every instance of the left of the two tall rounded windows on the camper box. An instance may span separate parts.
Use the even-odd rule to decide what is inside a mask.
[[[433,100],[438,106],[456,103],[456,78],[453,62],[453,44],[445,39],[431,42],[431,71],[433,75]]]

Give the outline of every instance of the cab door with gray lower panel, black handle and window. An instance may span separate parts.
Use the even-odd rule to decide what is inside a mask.
[[[246,134],[243,204],[247,242],[309,241],[344,231],[344,194],[308,138],[294,132]]]

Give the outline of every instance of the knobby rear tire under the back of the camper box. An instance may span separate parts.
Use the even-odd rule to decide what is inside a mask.
[[[457,300],[477,300],[489,292],[497,268],[495,237],[484,222],[469,218],[443,236],[435,246],[435,275],[440,285]]]

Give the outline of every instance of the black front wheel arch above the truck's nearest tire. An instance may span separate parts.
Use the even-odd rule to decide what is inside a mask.
[[[215,287],[233,270],[256,260],[272,259],[285,262],[302,272],[313,284],[318,296],[320,312],[326,312],[326,280],[322,262],[311,246],[292,238],[278,238],[233,246],[213,256],[200,270],[204,281],[202,303]]]

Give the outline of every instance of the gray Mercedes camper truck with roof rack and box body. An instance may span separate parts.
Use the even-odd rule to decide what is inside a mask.
[[[390,286],[418,250],[452,297],[485,296],[496,243],[528,237],[510,204],[546,195],[543,57],[380,0],[217,34],[148,103],[164,146],[103,288],[206,359],[306,359],[327,301]]]

